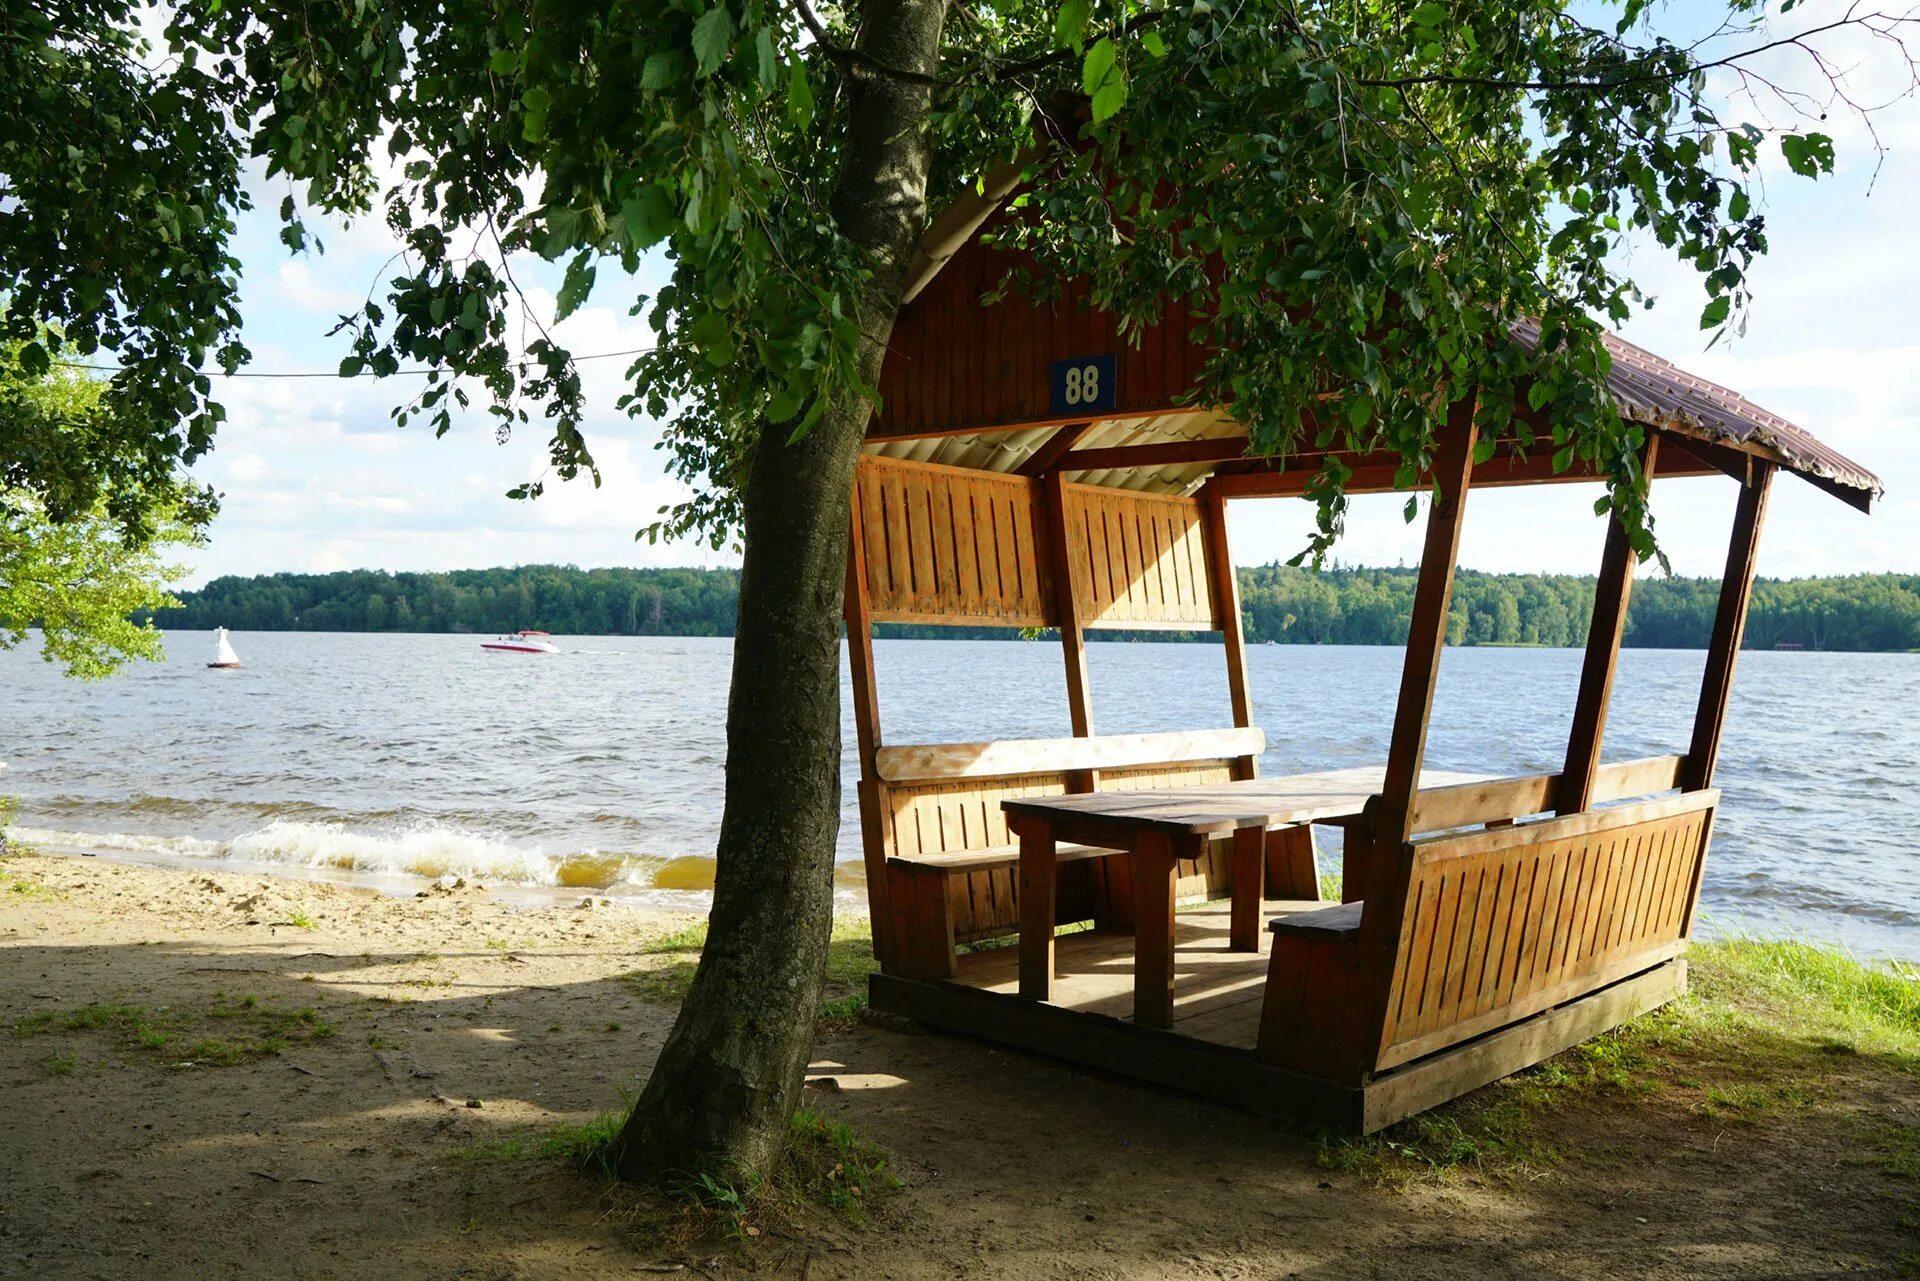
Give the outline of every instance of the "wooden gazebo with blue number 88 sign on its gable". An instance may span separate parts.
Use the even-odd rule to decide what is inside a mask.
[[[1231,409],[1179,403],[1204,359],[1179,303],[1137,346],[1073,282],[1052,305],[981,303],[1010,265],[979,240],[1004,196],[970,194],[927,232],[854,490],[872,1004],[1371,1131],[1680,993],[1768,486],[1789,471],[1866,511],[1878,478],[1615,342],[1647,474],[1740,486],[1692,741],[1603,762],[1634,576],[1613,524],[1565,768],[1442,776],[1423,753],[1469,488],[1596,478],[1544,451],[1475,467],[1473,398],[1455,399],[1421,482],[1438,501],[1386,761],[1260,778],[1225,507],[1304,494],[1321,457],[1248,457]],[[1350,492],[1394,488],[1398,457],[1344,461]],[[876,622],[1058,628],[1071,737],[885,741]],[[1094,734],[1096,628],[1219,632],[1227,724]],[[1346,830],[1342,905],[1319,901],[1313,824]]]

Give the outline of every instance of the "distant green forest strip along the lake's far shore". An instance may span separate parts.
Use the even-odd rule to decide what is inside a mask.
[[[1400,645],[1413,601],[1413,568],[1286,565],[1240,570],[1252,641],[1283,645]],[[240,632],[513,632],[572,636],[732,636],[737,570],[574,568],[522,565],[451,574],[267,574],[215,578],[154,615],[163,628]],[[1720,584],[1644,578],[1634,584],[1626,643],[1707,645]],[[1571,574],[1461,570],[1448,643],[1582,645],[1594,580]],[[995,628],[883,626],[881,636],[1014,638]],[[1092,632],[1100,640],[1179,640],[1167,632]],[[1192,640],[1202,640],[1196,634]],[[1747,645],[1774,649],[1920,649],[1920,574],[1761,580]]]

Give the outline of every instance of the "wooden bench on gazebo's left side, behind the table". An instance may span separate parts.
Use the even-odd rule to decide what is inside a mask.
[[[893,972],[954,978],[954,949],[1020,930],[1020,845],[1002,801],[1069,791],[1144,791],[1252,776],[1267,737],[1258,728],[1108,734],[881,747],[881,830]],[[1091,845],[1060,845],[1058,920],[1133,928],[1125,858]],[[1181,864],[1181,897],[1229,891],[1223,849]]]

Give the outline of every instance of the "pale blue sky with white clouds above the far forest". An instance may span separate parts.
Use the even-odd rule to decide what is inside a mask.
[[[1772,17],[1770,33],[1818,25],[1832,17],[1830,10],[1836,6],[1797,6]],[[1697,29],[1707,12],[1672,8],[1661,23],[1678,35]],[[1836,65],[1849,67],[1849,90],[1862,102],[1885,102],[1905,88],[1905,67],[1885,48],[1866,40],[1830,40],[1822,48]],[[1814,85],[1797,50],[1770,54],[1766,71]],[[1738,86],[1718,77],[1715,88],[1726,96]],[[1778,104],[1738,96],[1726,100],[1724,115],[1789,119]],[[1705,294],[1695,273],[1665,259],[1657,246],[1630,248],[1636,277],[1659,303],[1634,317],[1622,330],[1626,338],[1807,426],[1887,486],[1884,503],[1866,517],[1782,476],[1761,551],[1761,572],[1768,576],[1920,572],[1920,254],[1912,248],[1920,102],[1893,102],[1874,127],[1887,148],[1884,159],[1860,121],[1832,111],[1820,129],[1834,134],[1839,163],[1818,182],[1789,175],[1776,148],[1763,152],[1768,161],[1757,205],[1766,213],[1770,254],[1751,273],[1755,305],[1738,340],[1707,350],[1697,321]],[[346,342],[326,330],[374,288],[396,244],[372,217],[323,230],[324,254],[290,257],[278,240],[284,188],[265,181],[253,188],[257,209],[244,215],[236,246],[250,369],[334,369]],[[557,271],[516,259],[515,273],[530,286],[532,307],[551,315]],[[603,269],[589,305],[559,326],[559,338],[578,355],[647,346],[651,330],[628,311],[662,277],[664,263],[653,259],[634,278]],[[417,380],[225,380],[228,424],[194,469],[223,492],[223,509],[207,545],[188,553],[182,586],[276,570],[735,563],[732,553],[693,542],[636,542],[634,532],[684,490],[664,474],[655,451],[659,424],[614,407],[626,365],[624,357],[582,365],[591,405],[584,430],[603,484],[549,478],[547,494],[530,503],[505,492],[545,471],[538,423],[497,444],[492,423],[474,415],[436,440],[430,428],[396,428],[388,417]],[[1592,515],[1597,492],[1549,486],[1475,494],[1461,565],[1592,572],[1605,534]],[[1402,501],[1356,499],[1334,555],[1357,565],[1415,563],[1421,526],[1404,522]],[[1718,574],[1732,503],[1734,486],[1722,478],[1655,486],[1657,532],[1676,572]],[[1311,530],[1311,507],[1302,499],[1240,501],[1229,513],[1235,559],[1244,565],[1294,555]]]

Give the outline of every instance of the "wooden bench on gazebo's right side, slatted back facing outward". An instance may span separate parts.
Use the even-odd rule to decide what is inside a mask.
[[[1680,764],[1607,766],[1594,805],[1665,791]],[[1402,891],[1275,920],[1260,1058],[1367,1087],[1371,1129],[1670,999],[1718,793],[1515,822],[1555,784],[1423,791]],[[1396,1070],[1409,1081],[1373,1085]]]

